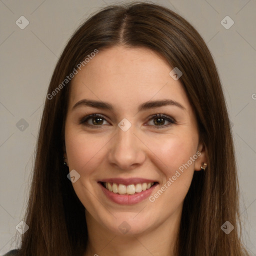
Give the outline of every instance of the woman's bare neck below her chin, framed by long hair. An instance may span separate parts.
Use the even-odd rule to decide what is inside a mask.
[[[158,226],[150,227],[148,223],[144,232],[123,235],[106,229],[86,211],[88,241],[84,256],[173,256],[181,210],[182,205]]]

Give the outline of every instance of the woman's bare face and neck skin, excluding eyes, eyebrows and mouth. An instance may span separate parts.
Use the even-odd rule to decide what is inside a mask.
[[[207,160],[194,111],[181,82],[169,75],[171,69],[147,48],[115,46],[99,50],[72,79],[64,157],[69,171],[80,174],[72,185],[86,208],[89,239],[84,256],[173,255],[184,197],[193,172]],[[72,110],[84,98],[106,101],[113,110],[86,105]],[[185,109],[165,105],[137,110],[143,102],[161,99],[175,100]],[[102,115],[103,123],[95,125],[93,118],[87,120],[90,127],[79,123],[92,113]],[[150,119],[157,113],[175,123],[163,119],[160,126],[169,125],[157,128],[157,117]],[[131,123],[125,132],[117,125],[123,118]],[[154,194],[197,151],[200,156],[154,202],[114,203],[97,183],[112,177],[150,178],[158,182]],[[125,234],[118,228],[123,221],[130,226]]]

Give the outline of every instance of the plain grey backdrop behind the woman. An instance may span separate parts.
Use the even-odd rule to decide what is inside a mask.
[[[42,104],[58,56],[91,12],[114,2],[0,0],[0,254],[16,246],[13,235],[24,214]],[[232,122],[244,243],[256,255],[256,1],[154,2],[185,17],[215,59]],[[22,15],[29,21],[24,29],[15,23]],[[220,22],[226,15],[234,21],[229,29]]]

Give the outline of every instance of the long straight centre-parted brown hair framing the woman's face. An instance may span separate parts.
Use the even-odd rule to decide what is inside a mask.
[[[152,3],[111,5],[87,19],[69,39],[52,74],[40,123],[20,256],[82,255],[87,241],[84,206],[63,165],[70,82],[56,90],[93,52],[115,45],[160,53],[179,78],[196,113],[208,166],[195,171],[183,203],[176,243],[180,256],[248,255],[240,239],[238,183],[230,123],[212,56],[198,32],[175,12]],[[86,68],[86,67],[85,67]],[[63,84],[63,83],[62,83]],[[234,229],[225,234],[221,225]]]

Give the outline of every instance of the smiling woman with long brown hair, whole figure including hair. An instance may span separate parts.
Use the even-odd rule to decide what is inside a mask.
[[[16,255],[248,255],[230,123],[198,32],[108,6],[53,72]]]

